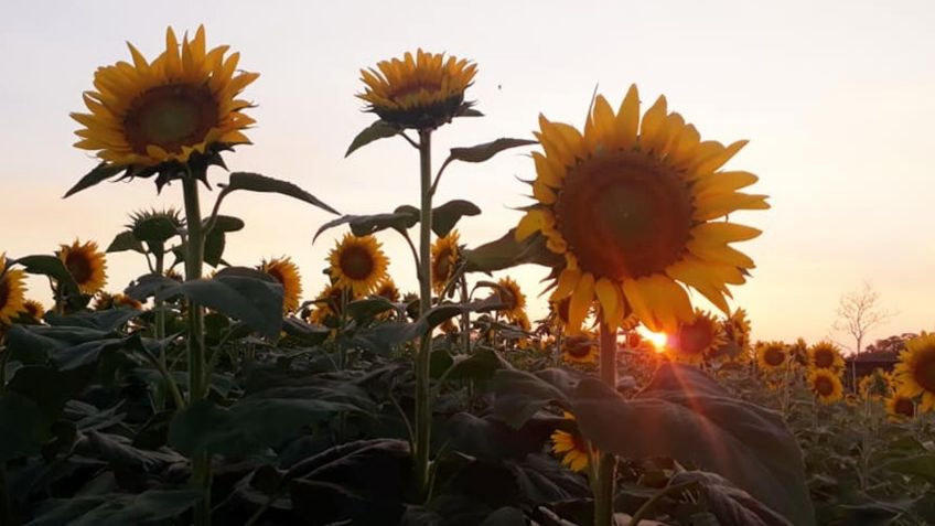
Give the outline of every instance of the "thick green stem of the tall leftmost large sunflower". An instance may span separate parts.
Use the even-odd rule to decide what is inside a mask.
[[[203,174],[197,174],[203,175]],[[198,202],[198,176],[189,172],[182,179],[187,226],[185,280],[201,279],[204,262],[204,232]],[[189,402],[195,404],[205,396],[204,307],[189,301]],[[202,492],[195,506],[195,526],[211,525],[211,457],[198,453],[192,459],[192,483]]]

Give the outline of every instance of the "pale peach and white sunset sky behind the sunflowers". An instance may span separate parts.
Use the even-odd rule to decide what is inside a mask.
[[[0,17],[0,251],[51,254],[76,237],[107,246],[130,212],[181,206],[180,185],[157,195],[144,180],[62,200],[95,164],[72,148],[78,126],[68,114],[84,109],[98,66],[129,60],[127,41],[154,57],[168,25],[181,33],[198,24],[208,46],[229,44],[241,68],[261,75],[245,92],[257,104],[254,146],[226,157],[232,170],[292,181],[347,214],[417,204],[418,155],[404,141],[344,152],[373,121],[354,97],[358,69],[420,46],[477,63],[467,98],[486,115],[439,130],[437,161],[448,148],[529,138],[540,112],[581,127],[595,86],[615,105],[635,83],[644,104],[665,94],[703,139],[750,140],[728,168],[756,173],[755,191],[771,196],[772,210],[732,216],[764,232],[735,245],[757,266],[733,301],[749,311],[754,339],[847,344],[831,331],[835,310],[864,281],[896,313],[871,340],[935,329],[931,0],[9,2]],[[529,203],[518,179],[534,176],[523,151],[452,165],[437,202],[466,198],[483,210],[459,225],[462,241],[476,246],[516,224],[513,208]],[[304,296],[316,296],[343,233],[312,243],[327,213],[249,193],[232,195],[224,213],[247,224],[228,237],[226,259],[252,266],[289,255]],[[380,240],[397,282],[415,290],[402,241],[393,233]],[[108,288],[144,272],[139,255],[112,255]],[[534,319],[544,314],[545,269],[508,273]],[[29,285],[47,302],[44,281]]]

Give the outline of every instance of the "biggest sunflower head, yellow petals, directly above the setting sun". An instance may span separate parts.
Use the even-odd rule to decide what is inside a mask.
[[[727,285],[743,283],[754,267],[729,244],[760,230],[714,219],[769,208],[764,195],[738,192],[755,175],[720,171],[745,141],[702,142],[667,111],[665,97],[641,120],[636,86],[617,112],[599,95],[583,133],[542,116],[539,126],[537,203],[516,237],[541,232],[548,248],[565,255],[556,294],[571,296],[572,325],[597,298],[612,328],[633,311],[649,330],[674,332],[695,318],[684,286],[728,312]]]

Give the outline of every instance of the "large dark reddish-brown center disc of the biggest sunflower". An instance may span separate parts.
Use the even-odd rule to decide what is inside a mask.
[[[582,270],[622,281],[678,260],[691,229],[691,195],[679,174],[620,151],[569,169],[556,223]]]

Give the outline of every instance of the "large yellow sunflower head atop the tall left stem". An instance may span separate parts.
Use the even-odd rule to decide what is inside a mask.
[[[259,74],[238,72],[239,53],[206,50],[204,26],[181,49],[169,28],[165,51],[152,62],[127,45],[133,63],[98,68],[96,90],[84,94],[90,112],[72,114],[84,126],[76,147],[118,167],[149,168],[250,143],[241,130],[254,119],[241,110],[251,104],[236,97]]]

